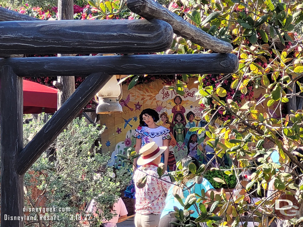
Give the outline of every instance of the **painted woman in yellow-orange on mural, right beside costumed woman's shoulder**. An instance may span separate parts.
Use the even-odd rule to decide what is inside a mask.
[[[168,120],[167,113],[166,112],[161,113],[160,118],[161,118],[161,121],[163,122],[161,124],[161,126],[171,130],[171,123]],[[170,132],[170,136],[171,136],[171,139],[168,142],[168,145],[169,145],[169,147],[168,147],[168,151],[169,151],[168,167],[169,167],[169,171],[173,171],[173,170],[175,170],[175,166],[176,166],[176,159],[175,159],[175,155],[174,155],[174,147],[176,146],[177,142],[176,142],[176,140],[175,140],[175,138],[174,138],[174,136],[171,132]]]

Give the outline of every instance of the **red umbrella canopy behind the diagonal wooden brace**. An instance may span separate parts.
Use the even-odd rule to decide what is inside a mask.
[[[57,89],[23,80],[23,113],[55,113]]]

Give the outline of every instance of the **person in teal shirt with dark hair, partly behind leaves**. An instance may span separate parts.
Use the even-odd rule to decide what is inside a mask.
[[[183,166],[185,163],[194,163],[197,166],[197,169],[199,168],[199,162],[196,160],[194,157],[187,156],[181,160]],[[195,179],[191,179],[186,183],[187,187],[192,186],[195,183]],[[174,189],[175,188],[175,189]],[[211,191],[215,191],[214,187],[211,185],[211,183],[208,182],[207,179],[203,178],[201,184],[195,184],[190,188],[190,194],[197,193],[198,195],[201,196],[201,190],[204,189],[205,195],[210,197]],[[169,212],[174,212],[174,206],[178,207],[178,209],[184,209],[183,206],[178,202],[177,199],[175,199],[174,194],[176,193],[176,190],[178,191],[177,194],[181,198],[183,198],[183,202],[185,201],[186,197],[189,195],[189,192],[187,189],[181,190],[180,187],[172,185],[167,192],[167,196],[165,199],[165,207],[162,210],[161,216],[160,216],[160,222],[159,222],[159,227],[172,227],[174,225],[170,224],[170,222],[178,222],[178,220],[175,217],[171,217],[169,215]],[[183,193],[182,193],[183,191]],[[215,191],[215,194],[218,193]],[[183,194],[180,195],[180,194]],[[191,214],[191,217],[197,218],[198,217],[198,212],[195,209],[195,206],[192,205],[189,210],[193,210],[194,213]]]

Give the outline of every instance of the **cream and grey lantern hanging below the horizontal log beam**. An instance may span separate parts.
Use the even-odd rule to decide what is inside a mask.
[[[97,114],[122,113],[122,106],[119,104],[122,99],[122,86],[118,85],[116,75],[112,76],[96,96],[99,99]]]

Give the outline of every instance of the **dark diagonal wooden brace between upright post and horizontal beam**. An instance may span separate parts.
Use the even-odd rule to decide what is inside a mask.
[[[68,57],[65,57],[68,58]],[[62,58],[58,58],[62,61]],[[24,174],[38,157],[57,138],[63,129],[72,122],[94,95],[106,84],[111,76],[104,73],[89,75],[71,97],[42,127],[18,156],[18,173]]]

